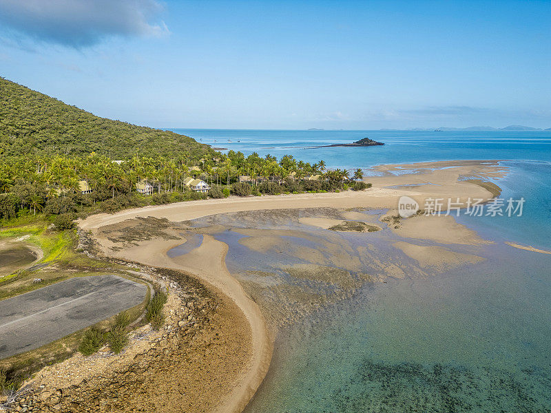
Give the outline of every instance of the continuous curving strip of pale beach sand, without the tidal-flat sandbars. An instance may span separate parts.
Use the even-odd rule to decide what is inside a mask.
[[[427,165],[434,165],[430,162],[422,162],[416,173],[398,176],[368,177],[366,180],[374,183],[372,189],[343,193],[315,193],[300,195],[267,195],[262,197],[249,198],[226,198],[222,200],[201,200],[192,202],[181,202],[178,204],[169,204],[158,207],[143,207],[121,211],[113,215],[98,214],[79,222],[83,230],[92,231],[95,236],[98,230],[103,226],[118,224],[125,220],[133,218],[165,218],[171,222],[182,222],[194,220],[208,215],[220,213],[232,213],[242,211],[260,211],[267,209],[299,209],[299,208],[375,208],[375,209],[395,209],[397,199],[402,195],[413,195],[419,200],[433,197],[435,195],[466,198],[481,197],[491,199],[494,194],[487,188],[475,183],[461,181],[461,176],[468,175],[473,171],[477,174],[487,174],[488,177],[503,176],[505,171],[497,167],[497,161],[453,161],[437,162],[440,169],[433,171],[426,170]],[[386,165],[378,167],[380,171],[390,171],[393,168],[411,167],[412,165]],[[450,169],[455,169],[450,171]],[[419,182],[429,182],[428,176],[438,182],[435,185],[420,186]],[[420,178],[419,178],[420,177]],[[412,183],[407,189],[389,188],[390,185],[400,185],[404,182]],[[427,191],[427,189],[430,189]],[[455,222],[455,220],[453,220]],[[423,233],[423,226],[415,233]],[[439,231],[439,229],[437,230]],[[435,233],[435,231],[429,231]],[[428,237],[430,235],[427,233]],[[408,236],[408,235],[406,235]],[[435,235],[433,235],[435,236]],[[419,237],[422,237],[419,235]],[[247,405],[256,389],[262,383],[271,359],[273,340],[269,337],[264,316],[258,305],[247,295],[245,290],[237,279],[232,277],[225,266],[225,255],[227,245],[218,242],[214,238],[205,237],[203,251],[196,253],[196,257],[187,257],[186,260],[169,260],[166,251],[180,242],[156,242],[154,246],[149,244],[148,248],[143,250],[139,246],[134,251],[125,255],[119,255],[125,259],[142,262],[143,264],[157,266],[161,268],[174,268],[179,271],[187,271],[195,277],[211,286],[214,286],[220,293],[230,297],[235,302],[242,313],[247,317],[251,327],[251,341],[253,356],[249,361],[247,372],[242,375],[240,381],[233,388],[231,393],[223,401],[217,412],[240,412]],[[108,248],[105,248],[106,241],[101,242],[104,253],[110,255]],[[197,248],[200,249],[200,248]],[[205,255],[205,253],[207,255]],[[116,256],[116,254],[112,254]],[[210,256],[210,258],[209,258]],[[216,259],[212,259],[212,257]],[[205,260],[207,257],[207,260]]]

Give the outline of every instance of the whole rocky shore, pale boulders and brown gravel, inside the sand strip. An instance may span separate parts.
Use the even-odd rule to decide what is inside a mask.
[[[96,255],[92,244],[81,237],[85,251]],[[121,354],[104,346],[90,357],[77,353],[43,368],[4,399],[0,411],[158,412],[170,405],[171,412],[203,412],[229,392],[239,373],[232,356],[246,360],[249,352],[250,338],[236,340],[235,326],[227,322],[236,319],[238,309],[184,273],[112,261],[166,287],[163,327],[153,330],[147,324],[129,332]],[[222,370],[227,374],[218,374]],[[206,394],[209,387],[213,391]]]

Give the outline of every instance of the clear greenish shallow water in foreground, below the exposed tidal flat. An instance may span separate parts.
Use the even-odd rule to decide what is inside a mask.
[[[364,288],[284,330],[252,412],[549,412],[545,257]],[[497,251],[500,250],[500,251]]]

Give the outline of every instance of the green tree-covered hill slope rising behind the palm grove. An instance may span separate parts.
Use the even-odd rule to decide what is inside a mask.
[[[0,156],[79,156],[111,159],[189,156],[214,151],[188,136],[94,116],[28,87],[0,78]]]

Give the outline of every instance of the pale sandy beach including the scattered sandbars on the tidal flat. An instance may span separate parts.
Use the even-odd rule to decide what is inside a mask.
[[[202,244],[190,253],[176,257],[167,257],[167,251],[174,246],[183,243],[183,237],[150,237],[149,240],[134,242],[122,245],[114,240],[113,235],[105,232],[118,231],[119,235],[124,233],[124,223],[131,222],[135,218],[154,217],[166,219],[169,222],[189,222],[211,215],[247,213],[257,211],[294,210],[294,209],[338,209],[337,215],[327,214],[323,216],[309,216],[302,218],[300,224],[306,226],[326,229],[334,226],[343,220],[354,220],[366,218],[351,209],[389,209],[397,207],[397,200],[402,195],[414,197],[421,204],[426,198],[482,198],[491,199],[495,196],[488,184],[480,184],[477,180],[469,182],[466,177],[477,177],[481,182],[487,182],[489,178],[503,176],[506,170],[497,165],[497,161],[453,161],[453,162],[424,162],[414,165],[386,165],[375,168],[383,176],[366,178],[366,181],[373,182],[373,188],[366,191],[342,193],[313,193],[299,195],[274,195],[247,198],[226,198],[222,200],[202,200],[194,202],[182,202],[158,207],[145,207],[121,211],[112,215],[99,214],[79,222],[81,229],[91,231],[98,241],[103,253],[112,257],[121,257],[125,260],[141,262],[149,266],[172,268],[178,271],[185,271],[200,279],[201,282],[211,286],[219,293],[227,295],[245,315],[251,328],[251,357],[242,368],[239,379],[233,389],[226,394],[222,402],[218,404],[217,412],[240,412],[253,396],[254,392],[262,382],[267,373],[271,359],[273,346],[273,331],[267,327],[267,322],[259,305],[251,299],[251,296],[243,288],[242,284],[233,277],[227,270],[225,257],[228,246],[214,237],[205,233]],[[411,173],[393,175],[393,171],[408,170]],[[499,190],[499,188],[498,188]],[[358,215],[359,214],[359,215]],[[365,220],[368,222],[368,220]],[[372,222],[375,223],[375,222]],[[381,222],[378,222],[382,225]],[[253,228],[253,226],[251,226]],[[482,240],[475,231],[466,229],[459,225],[452,217],[436,218],[419,216],[401,220],[399,224],[388,226],[389,231],[404,238],[395,247],[402,250],[406,255],[417,262],[417,269],[412,269],[419,274],[426,275],[427,268],[451,268],[459,264],[475,264],[482,260],[481,257],[471,254],[469,251],[451,251],[446,244],[455,244],[459,247],[477,246],[488,243]],[[172,231],[172,232],[170,232]],[[171,229],[169,233],[176,234]],[[211,230],[212,231],[212,230]],[[268,251],[276,243],[275,237],[282,233],[255,234],[253,229],[240,230],[249,231],[244,233],[249,238],[244,238],[245,245],[254,247],[256,251]],[[331,232],[331,231],[327,231]],[[267,235],[269,235],[267,239]],[[296,234],[295,234],[296,235]],[[111,237],[111,239],[110,239]],[[260,239],[259,237],[264,237]],[[307,237],[306,237],[307,238]],[[256,241],[251,241],[256,240]],[[416,245],[415,240],[430,240],[440,245]],[[265,246],[262,246],[262,245]],[[331,244],[328,242],[327,244]],[[260,249],[258,249],[260,248]],[[338,245],[334,248],[339,248]],[[369,255],[369,246],[362,252]],[[326,257],[316,255],[315,251],[306,251],[302,248],[299,254],[308,253],[311,262],[315,265],[325,265]],[[329,251],[329,250],[328,250]],[[333,250],[331,250],[333,251]],[[335,249],[334,255],[340,252]],[[302,256],[301,255],[301,256]],[[306,255],[304,255],[306,256]],[[317,257],[317,258],[316,258]],[[344,257],[344,256],[343,256]],[[318,260],[319,264],[316,264]],[[373,262],[377,259],[372,257]],[[344,258],[341,260],[344,261]],[[353,261],[351,261],[353,263]],[[349,264],[350,265],[350,264]],[[380,266],[385,268],[386,274],[393,277],[404,277],[407,275],[404,268],[400,268],[393,262],[381,262]],[[311,268],[304,267],[306,272]],[[315,267],[312,267],[315,268]],[[358,267],[359,268],[359,267]],[[351,268],[354,271],[356,268]],[[303,272],[304,273],[304,272]],[[304,273],[306,274],[306,273]],[[336,275],[339,279],[346,279],[342,274]],[[309,275],[304,275],[309,277]],[[343,278],[344,277],[344,278]],[[354,284],[354,283],[353,283]]]

